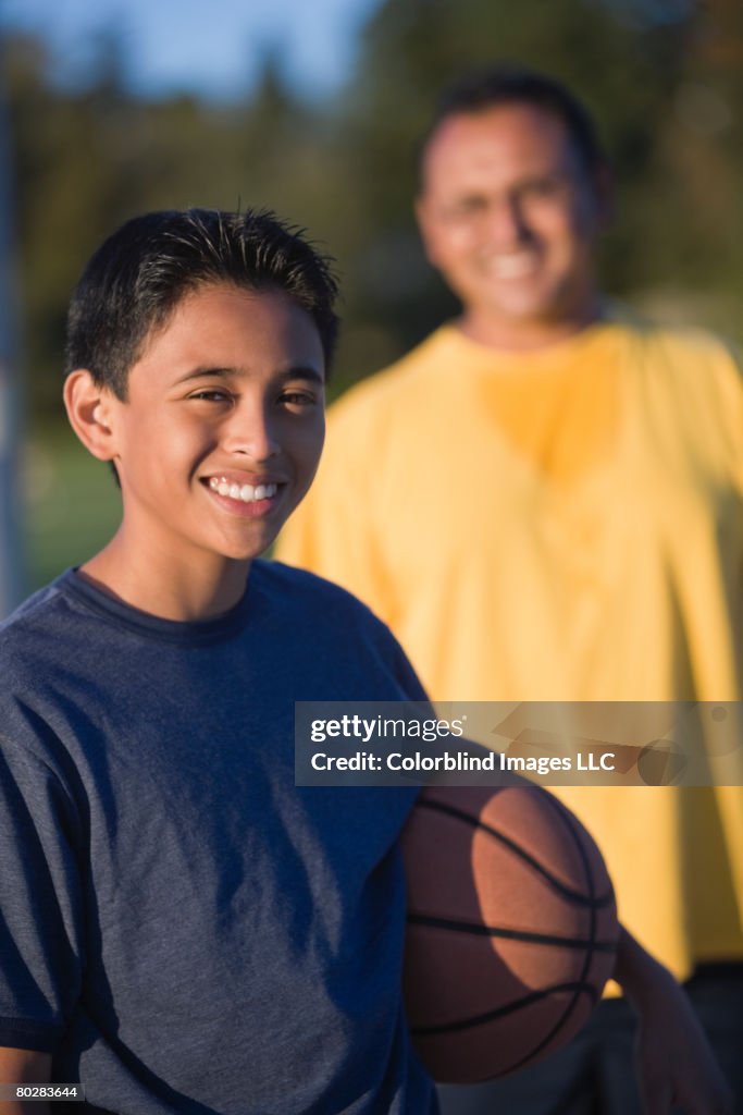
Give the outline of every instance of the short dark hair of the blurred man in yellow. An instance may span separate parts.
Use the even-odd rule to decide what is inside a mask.
[[[583,168],[589,175],[606,165],[594,122],[577,97],[546,74],[505,62],[471,70],[443,90],[421,144],[421,158],[431,136],[447,117],[481,113],[498,105],[530,105],[551,113],[565,125]]]

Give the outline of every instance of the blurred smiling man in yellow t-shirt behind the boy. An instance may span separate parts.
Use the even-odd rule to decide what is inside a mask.
[[[369,603],[436,700],[739,700],[740,371],[600,297],[608,172],[584,109],[538,75],[467,78],[416,209],[461,317],[338,405],[278,555]],[[692,978],[742,1104],[740,787],[559,793],[623,921]],[[630,1035],[607,1001],[568,1053],[451,1109],[632,1115]]]

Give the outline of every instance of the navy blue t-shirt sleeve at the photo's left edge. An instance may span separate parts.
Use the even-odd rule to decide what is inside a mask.
[[[55,773],[0,733],[0,1046],[52,1053],[82,972],[78,809]]]

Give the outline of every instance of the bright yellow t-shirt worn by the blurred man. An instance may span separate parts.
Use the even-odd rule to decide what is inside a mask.
[[[743,381],[700,332],[529,353],[444,326],[332,409],[277,555],[394,631],[437,701],[741,699]],[[741,787],[566,787],[680,977],[743,958]]]

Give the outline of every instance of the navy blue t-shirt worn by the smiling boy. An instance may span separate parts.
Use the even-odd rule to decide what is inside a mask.
[[[387,628],[275,563],[196,623],[68,572],[0,678],[0,1045],[118,1115],[434,1109],[400,997],[416,791],[294,785],[295,700],[422,699]]]

